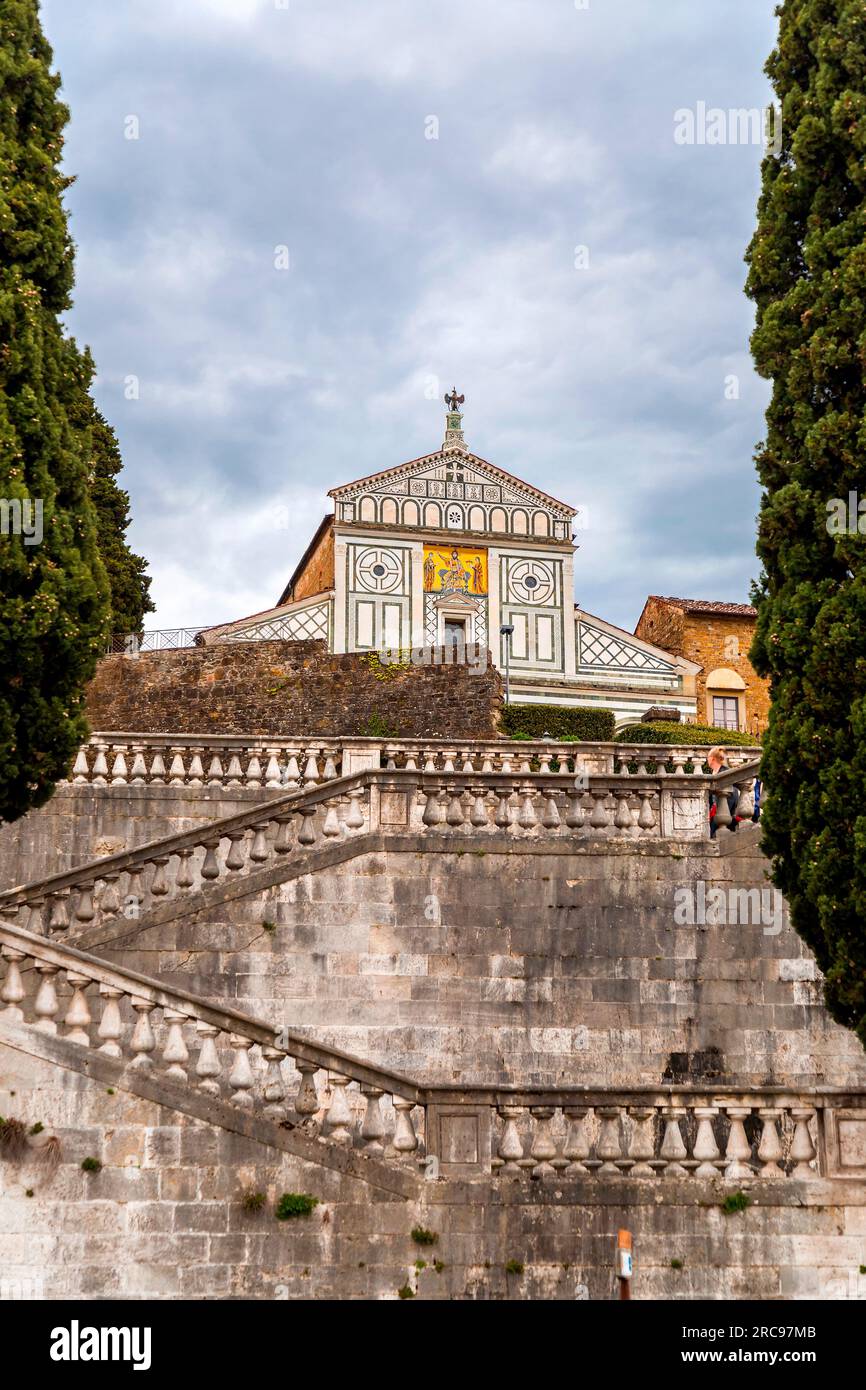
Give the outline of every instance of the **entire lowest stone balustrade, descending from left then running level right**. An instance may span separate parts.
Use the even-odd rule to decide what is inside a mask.
[[[50,1034],[113,1058],[131,1088],[136,1074],[174,1087],[163,1104],[195,1088],[432,1179],[741,1187],[860,1170],[847,1165],[862,1143],[848,1131],[866,1133],[863,1091],[423,1086],[3,922],[0,956],[0,1038],[7,1024]]]

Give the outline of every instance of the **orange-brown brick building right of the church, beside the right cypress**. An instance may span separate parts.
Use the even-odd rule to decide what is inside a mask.
[[[651,594],[634,631],[645,642],[699,664],[699,721],[760,733],[770,710],[770,688],[749,662],[755,616],[751,603]]]

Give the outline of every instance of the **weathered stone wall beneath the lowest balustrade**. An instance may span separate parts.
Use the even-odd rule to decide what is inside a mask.
[[[400,1201],[3,1044],[0,1113],[63,1144],[53,1176],[0,1161],[4,1298],[612,1300],[620,1226],[634,1298],[866,1297],[863,1183],[810,1183],[808,1204],[787,1183],[753,1184],[733,1216],[694,1177],[663,1179],[664,1202],[659,1183],[626,1177],[438,1182]],[[245,1191],[265,1207],[246,1212]],[[281,1223],[285,1191],[318,1205]],[[435,1244],[416,1245],[414,1226]]]

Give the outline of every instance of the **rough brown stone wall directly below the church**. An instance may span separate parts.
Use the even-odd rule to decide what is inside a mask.
[[[324,642],[221,642],[107,656],[88,688],[99,730],[489,738],[502,678],[489,664],[381,666]]]

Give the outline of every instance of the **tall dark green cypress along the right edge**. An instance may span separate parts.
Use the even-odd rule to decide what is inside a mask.
[[[752,648],[773,702],[763,837],[830,1012],[866,1042],[866,7],[777,14],[781,149],[746,254],[771,382]]]

